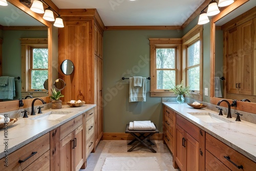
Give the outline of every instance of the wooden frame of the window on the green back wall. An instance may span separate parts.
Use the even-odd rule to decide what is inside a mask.
[[[175,97],[170,91],[157,90],[156,84],[156,49],[176,48],[176,84],[181,81],[181,54],[182,40],[180,38],[150,38],[150,58],[151,58],[151,97]]]

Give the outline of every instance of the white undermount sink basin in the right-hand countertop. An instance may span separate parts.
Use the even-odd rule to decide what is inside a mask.
[[[212,113],[188,113],[207,123],[233,123],[233,121]]]

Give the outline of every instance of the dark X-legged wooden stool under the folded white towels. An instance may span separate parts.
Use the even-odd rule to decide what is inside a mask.
[[[156,126],[156,125],[155,125]],[[135,144],[132,148],[128,149],[127,152],[132,152],[134,148],[139,146],[140,144],[143,144],[148,149],[150,149],[153,153],[157,153],[155,149],[153,149],[151,146],[147,145],[145,142],[149,142],[151,145],[155,145],[149,138],[153,136],[155,133],[159,133],[157,126],[156,130],[129,130],[129,124],[126,124],[126,130],[125,133],[130,133],[132,136],[135,137],[134,140],[128,143],[128,145],[133,144],[135,141],[139,141],[137,144]],[[139,135],[137,135],[139,134]],[[144,134],[148,134],[144,136]]]

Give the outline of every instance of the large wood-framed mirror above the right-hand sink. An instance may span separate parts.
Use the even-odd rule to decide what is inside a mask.
[[[250,74],[252,74],[251,76],[249,76],[250,78],[250,81],[252,81],[251,83],[249,83],[248,85],[250,86],[250,89],[253,91],[251,92],[252,94],[250,96],[247,96],[246,93],[242,92],[240,93],[234,93],[234,92],[231,92],[230,93],[230,85],[232,85],[234,88],[237,87],[237,89],[241,89],[241,82],[235,82],[233,81],[234,79],[237,79],[237,78],[245,78],[245,75],[248,75],[247,73],[244,75],[241,74],[242,72],[245,71],[245,68],[243,69],[243,71],[241,73],[237,73],[239,70],[241,71],[241,63],[244,63],[243,62],[243,59],[239,59],[240,56],[243,56],[242,54],[242,51],[244,51],[242,48],[244,45],[236,45],[237,47],[240,47],[240,48],[233,48],[233,49],[237,49],[238,53],[236,55],[230,55],[231,53],[229,53],[228,51],[231,52],[231,50],[229,50],[228,48],[228,41],[231,39],[231,38],[227,38],[227,34],[229,33],[235,33],[234,31],[236,30],[239,30],[239,34],[241,35],[242,37],[242,29],[240,28],[240,26],[242,26],[242,22],[241,20],[243,20],[244,18],[247,18],[245,17],[245,15],[248,15],[248,13],[250,13],[250,17],[248,17],[249,19],[252,18],[255,18],[255,12],[254,14],[251,13],[251,11],[255,11],[255,1],[252,1],[252,0],[237,0],[236,2],[234,2],[233,4],[231,4],[230,6],[228,6],[227,8],[225,8],[224,10],[221,11],[221,13],[219,13],[218,15],[214,16],[211,18],[210,20],[210,62],[211,62],[211,73],[210,73],[210,80],[211,80],[211,84],[210,84],[210,102],[212,104],[217,104],[218,101],[220,101],[221,99],[225,98],[229,101],[229,103],[231,104],[232,101],[234,99],[237,100],[237,107],[232,107],[232,109],[236,109],[236,110],[239,110],[239,111],[244,111],[244,112],[249,112],[249,113],[254,113],[256,114],[256,102],[244,102],[244,101],[240,101],[242,99],[249,99],[249,98],[254,98],[254,92],[256,92],[256,84],[254,83],[253,79],[256,79],[254,78],[253,75],[255,75],[255,69],[256,69],[256,65],[254,65],[254,63],[256,63],[256,52],[254,50],[254,52],[252,52],[252,57],[249,57],[251,62],[250,63],[250,67],[247,66],[247,68],[250,68],[251,69],[251,72]],[[253,9],[254,7],[254,9]],[[251,11],[248,11],[248,10],[251,10]],[[246,12],[248,11],[248,12]],[[236,15],[235,15],[236,14]],[[232,18],[229,18],[228,20],[226,20],[227,17],[230,17],[232,16]],[[239,20],[237,20],[236,22],[236,19],[237,18],[240,18]],[[230,19],[232,19],[231,22],[227,22],[229,21]],[[247,19],[248,20],[248,19]],[[233,22],[235,21],[235,22]],[[254,19],[255,21],[255,19]],[[222,24],[221,24],[222,22]],[[224,22],[224,23],[223,23]],[[230,25],[230,23],[232,23],[232,26]],[[247,21],[246,21],[247,22]],[[253,21],[252,21],[253,22]],[[219,26],[219,24],[221,26]],[[220,42],[219,46],[216,46],[216,41],[218,39],[218,36],[216,36],[218,34],[218,30],[225,28],[227,27],[227,25],[230,25],[229,28],[230,30],[227,32],[227,31],[223,31],[223,38],[219,38],[219,39],[222,39],[222,42]],[[255,32],[255,26],[256,26],[256,23],[254,22],[253,26],[250,27],[251,29],[254,28],[254,30],[252,32]],[[221,31],[222,31],[221,30]],[[246,33],[245,33],[246,32]],[[248,31],[244,31],[244,35],[247,34]],[[242,44],[242,41],[247,41],[248,42],[248,39],[241,39],[239,38],[239,34],[233,34],[235,35],[234,37],[236,37],[237,39],[240,39],[240,41],[237,41],[239,42],[239,44]],[[248,33],[249,34],[249,33]],[[243,35],[243,36],[244,36]],[[252,41],[255,41],[255,35],[253,35],[252,38],[250,38],[250,42],[251,44],[254,44],[252,46],[255,46],[255,43],[253,43]],[[232,42],[235,42],[233,40],[231,40]],[[231,46],[230,46],[231,47]],[[222,48],[222,49],[221,49]],[[228,61],[228,57],[233,57],[233,59],[231,61]],[[221,57],[221,58],[220,58]],[[237,57],[237,58],[234,58],[234,57]],[[241,57],[240,57],[241,58]],[[248,58],[248,59],[249,59]],[[248,62],[248,59],[244,59],[244,61],[247,61]],[[218,61],[218,62],[217,62]],[[234,61],[237,61],[237,62],[240,62],[240,66],[236,66],[234,65]],[[218,71],[217,68],[221,68],[222,67],[222,71]],[[233,67],[232,69],[232,72],[231,72],[231,67]],[[247,69],[246,68],[246,69]],[[253,69],[254,68],[254,69]],[[236,73],[234,73],[234,72]],[[222,94],[221,95],[217,95],[216,94],[216,82],[217,81],[217,78],[218,77],[222,77],[222,76],[225,76],[225,80],[220,80],[221,82],[221,91],[222,91]],[[232,78],[233,77],[233,78]],[[231,82],[231,81],[233,82]],[[248,79],[247,79],[248,80]],[[222,86],[223,85],[223,86]],[[253,90],[254,89],[254,90]],[[224,104],[224,106],[227,106],[226,104]]]

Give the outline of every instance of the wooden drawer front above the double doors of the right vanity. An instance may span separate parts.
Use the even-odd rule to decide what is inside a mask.
[[[187,132],[190,136],[195,138],[199,142],[199,127],[184,119],[180,115],[176,115],[176,123],[182,127],[185,132]]]

